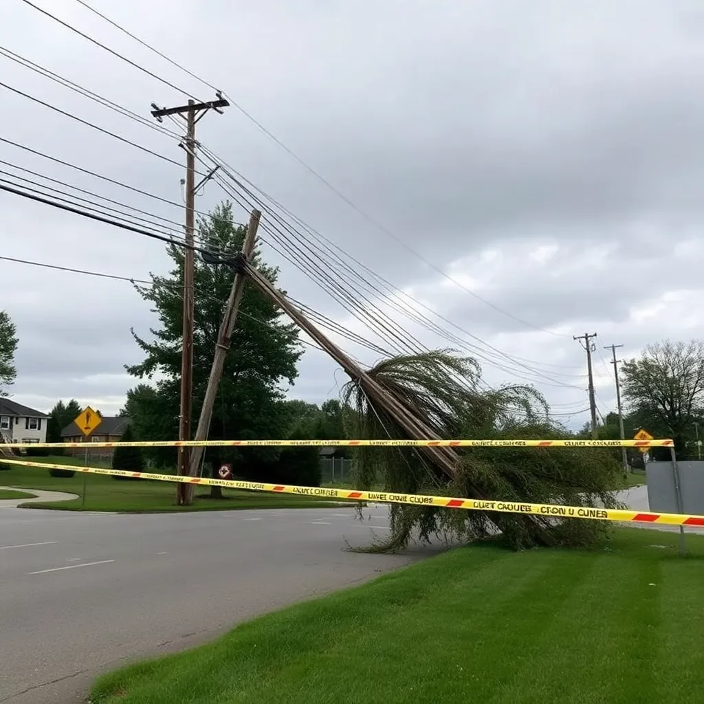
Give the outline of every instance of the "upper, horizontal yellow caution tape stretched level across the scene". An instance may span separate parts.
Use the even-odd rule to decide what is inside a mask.
[[[159,440],[7,443],[4,448],[104,447],[672,447],[672,440]]]

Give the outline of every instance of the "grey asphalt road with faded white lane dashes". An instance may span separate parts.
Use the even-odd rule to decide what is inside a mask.
[[[384,507],[115,515],[0,508],[0,702],[84,700],[104,670],[407,565],[346,550]]]

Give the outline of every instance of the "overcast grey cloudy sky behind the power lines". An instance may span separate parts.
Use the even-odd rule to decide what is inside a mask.
[[[34,2],[180,89],[213,97],[74,0]],[[442,325],[479,347],[489,383],[529,379],[555,413],[583,411],[585,354],[572,336],[598,332],[596,390],[607,413],[615,394],[604,345],[624,344],[621,356],[631,357],[650,341],[700,337],[699,1],[92,5],[222,88],[382,223],[388,232],[236,106],[199,122],[203,144],[406,291],[413,300],[403,298],[403,305],[420,301],[451,320],[457,327]],[[184,94],[21,0],[6,2],[0,46],[146,117],[152,101],[184,102]],[[11,87],[183,161],[170,137],[3,56],[0,68]],[[0,137],[181,201],[179,165],[6,88],[0,93]],[[2,142],[0,159],[182,220],[181,208]],[[197,207],[208,210],[223,197],[208,184]],[[138,234],[11,194],[0,194],[0,208],[3,256],[139,278],[168,269],[163,245]],[[237,217],[247,216],[239,210]],[[291,295],[374,339],[300,272],[264,253],[282,264],[281,283]],[[58,398],[75,397],[115,413],[135,383],[123,365],[141,358],[130,327],[148,334],[149,306],[125,282],[2,260],[0,272],[0,308],[20,339],[15,400],[48,410]],[[448,346],[399,321],[427,346]],[[375,360],[348,348],[365,363]],[[507,362],[498,351],[520,360]],[[337,395],[344,375],[335,369],[320,351],[306,352],[291,396],[320,402]],[[573,426],[588,417],[560,416]]]

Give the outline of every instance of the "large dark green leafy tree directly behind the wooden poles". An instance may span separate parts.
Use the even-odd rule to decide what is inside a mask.
[[[208,218],[201,219],[199,230],[202,245],[218,252],[240,251],[246,233],[244,227],[234,222],[230,203],[222,203]],[[151,330],[151,339],[133,332],[145,357],[142,363],[126,367],[131,375],[142,379],[142,384],[128,394],[126,410],[144,440],[178,437],[184,252],[173,246],[168,254],[174,263],[170,274],[152,276],[151,287],[137,287],[158,315],[158,325]],[[270,281],[276,282],[277,269],[265,265],[258,251],[253,256],[253,264]],[[198,422],[233,277],[232,268],[209,265],[196,258],[193,427]],[[284,435],[287,413],[281,403],[282,384],[293,382],[297,375],[296,363],[302,353],[296,326],[282,321],[275,303],[246,286],[230,351],[225,358],[208,437],[271,439]],[[227,448],[208,448],[204,461],[212,467],[215,476],[222,462],[230,462],[235,467],[243,462],[275,461],[277,456],[272,448],[252,448],[246,454]],[[155,453],[155,458],[161,465],[176,464],[175,451]],[[211,495],[218,494],[219,488],[213,487]]]

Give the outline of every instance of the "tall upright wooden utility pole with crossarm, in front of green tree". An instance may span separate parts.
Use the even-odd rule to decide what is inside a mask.
[[[181,403],[179,412],[179,440],[188,440],[191,436],[191,397],[193,396],[193,334],[194,334],[194,239],[195,198],[196,191],[213,175],[211,171],[197,186],[196,181],[196,122],[209,110],[222,114],[221,108],[230,105],[216,93],[217,100],[208,103],[196,103],[189,100],[188,105],[177,108],[159,108],[151,103],[151,114],[159,121],[167,115],[178,115],[186,121],[186,137],[180,146],[186,150],[186,251],[183,269],[183,341],[181,347]],[[180,448],[178,454],[178,473],[188,474],[189,448]],[[187,501],[187,484],[177,485],[177,501]]]

